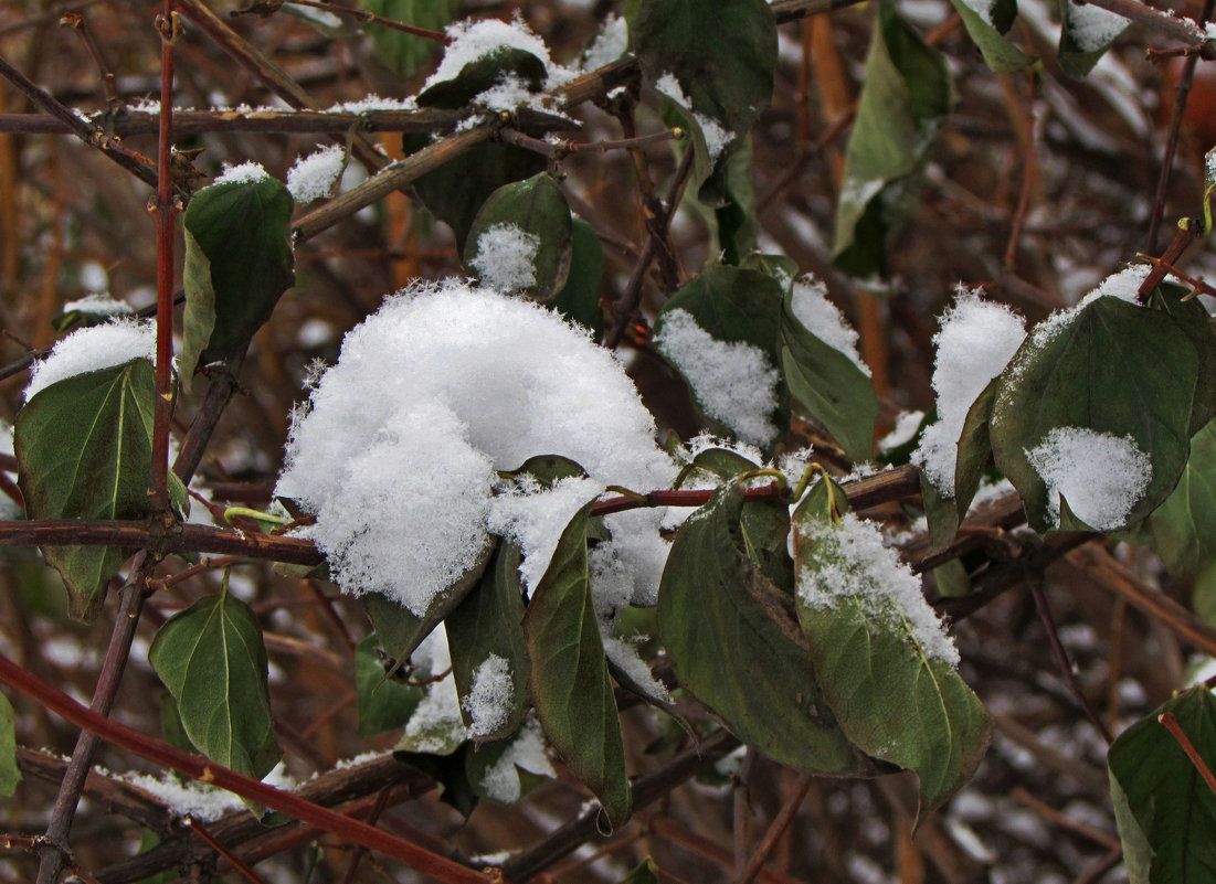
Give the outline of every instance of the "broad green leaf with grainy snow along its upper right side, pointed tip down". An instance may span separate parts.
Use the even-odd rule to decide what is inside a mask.
[[[890,562],[858,552],[867,531]],[[931,610],[911,572],[893,573],[894,560],[877,525],[816,506],[794,515],[798,616],[823,697],[862,752],[916,771],[921,820],[970,780],[992,722],[938,636],[927,638],[936,624],[916,611],[931,618]]]

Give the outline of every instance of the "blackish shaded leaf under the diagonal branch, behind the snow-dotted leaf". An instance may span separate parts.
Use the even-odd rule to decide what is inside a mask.
[[[429,143],[430,136],[424,132],[402,136],[407,154]],[[531,177],[547,168],[548,162],[535,151],[513,144],[478,144],[415,180],[413,189],[427,209],[452,228],[456,249],[463,254],[468,229],[489,195],[511,181]]]

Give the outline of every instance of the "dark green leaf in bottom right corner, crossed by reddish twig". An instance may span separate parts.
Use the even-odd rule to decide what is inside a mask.
[[[1159,722],[1172,713],[1209,766],[1216,765],[1216,698],[1197,685],[1124,731],[1107,765],[1132,884],[1216,879],[1216,795]]]

